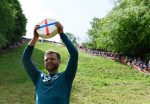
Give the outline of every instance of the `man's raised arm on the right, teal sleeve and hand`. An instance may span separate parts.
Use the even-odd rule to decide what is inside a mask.
[[[65,74],[66,74],[67,82],[69,86],[71,86],[77,71],[78,51],[76,47],[72,44],[72,42],[68,39],[68,37],[64,34],[63,26],[60,23],[56,24],[56,26],[58,27],[58,33],[60,34],[60,37],[65,43],[70,54],[70,58],[68,61],[67,68],[65,70]]]

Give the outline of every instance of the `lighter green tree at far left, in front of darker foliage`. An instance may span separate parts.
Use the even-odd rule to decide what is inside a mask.
[[[2,0],[0,2],[0,47],[8,43],[6,39],[7,33],[12,32],[11,27],[13,28],[14,26],[14,16],[9,3]]]

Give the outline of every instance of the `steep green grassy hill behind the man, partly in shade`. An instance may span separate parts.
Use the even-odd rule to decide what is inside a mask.
[[[34,86],[26,74],[21,55],[27,44],[0,54],[0,104],[34,104]],[[33,61],[43,70],[47,49],[60,52],[65,69],[68,52],[65,47],[38,42]],[[79,51],[77,75],[70,104],[149,104],[150,77],[110,59]]]

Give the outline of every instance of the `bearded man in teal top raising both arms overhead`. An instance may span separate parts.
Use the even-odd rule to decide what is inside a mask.
[[[32,63],[32,52],[39,38],[36,32],[38,26],[35,27],[33,39],[29,42],[22,56],[23,65],[35,85],[36,104],[69,104],[71,87],[77,70],[78,51],[64,34],[63,26],[58,22],[56,27],[70,54],[64,72],[58,73],[61,58],[57,52],[47,51],[45,53],[44,62],[48,75],[41,72]]]

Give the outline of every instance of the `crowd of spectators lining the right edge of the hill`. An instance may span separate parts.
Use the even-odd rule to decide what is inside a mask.
[[[140,72],[150,74],[150,60],[144,60],[140,57],[129,57],[106,50],[89,49],[85,47],[80,47],[80,49],[89,54],[110,58],[122,64],[132,66]]]

